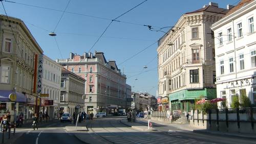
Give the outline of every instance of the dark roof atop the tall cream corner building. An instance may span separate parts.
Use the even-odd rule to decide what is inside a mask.
[[[212,12],[212,13],[226,14],[228,12],[228,10],[209,5],[204,8],[195,10],[193,12],[187,12],[185,14],[198,13],[198,12]]]

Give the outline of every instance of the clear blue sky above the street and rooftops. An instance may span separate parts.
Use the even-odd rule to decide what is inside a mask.
[[[55,60],[61,59],[61,55],[63,58],[68,58],[70,52],[80,55],[88,52],[111,19],[144,0],[71,0],[66,10],[68,13],[63,15],[55,30],[61,55],[54,37],[49,36],[48,33],[54,30],[62,14],[61,11],[66,8],[69,0],[11,1],[16,3],[3,2],[7,14],[22,19],[45,55]],[[143,25],[155,28],[174,26],[182,14],[200,9],[209,2],[218,3],[219,7],[226,8],[227,4],[236,5],[239,1],[148,0],[117,19],[121,22],[114,21],[91,52],[101,51],[104,52],[107,60],[116,60],[119,69],[124,71],[127,77],[126,83],[132,86],[132,91],[147,91],[156,95],[158,89],[157,43],[153,43],[164,33],[149,31]],[[0,13],[5,14],[2,5]],[[148,49],[124,62],[151,44],[153,45]],[[146,69],[143,68],[144,65],[147,65]]]

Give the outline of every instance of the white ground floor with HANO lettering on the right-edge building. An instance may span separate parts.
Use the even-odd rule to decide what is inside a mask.
[[[226,99],[229,108],[234,98],[242,103],[242,95],[248,97],[251,104],[256,106],[256,77],[217,83],[217,97]],[[221,103],[218,103],[218,107],[222,108]]]

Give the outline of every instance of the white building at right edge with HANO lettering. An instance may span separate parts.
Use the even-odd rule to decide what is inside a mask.
[[[255,8],[256,1],[242,0],[211,27],[216,37],[217,97],[226,98],[228,106],[242,94],[256,104]]]

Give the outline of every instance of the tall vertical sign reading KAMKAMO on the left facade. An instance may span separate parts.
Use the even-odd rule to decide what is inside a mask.
[[[40,94],[42,91],[42,77],[43,77],[43,69],[42,66],[44,64],[44,55],[39,55],[38,57],[38,69],[37,69],[37,94]]]

